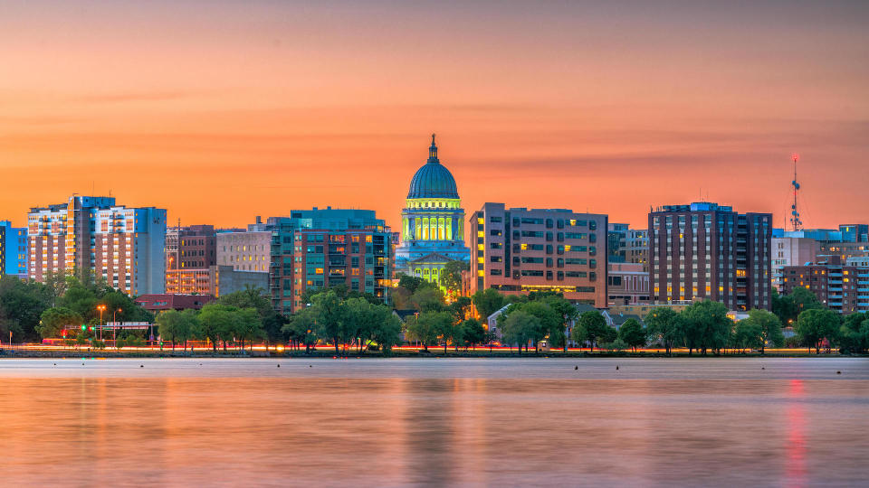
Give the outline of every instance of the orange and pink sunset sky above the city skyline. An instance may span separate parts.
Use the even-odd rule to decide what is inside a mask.
[[[869,3],[0,0],[0,220],[73,193],[394,230],[437,133],[468,213],[698,200],[869,222]]]

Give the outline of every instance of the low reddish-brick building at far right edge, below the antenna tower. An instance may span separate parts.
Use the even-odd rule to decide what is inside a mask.
[[[840,314],[869,312],[869,267],[838,257],[828,262],[782,268],[782,288],[790,294],[805,287],[817,299]]]

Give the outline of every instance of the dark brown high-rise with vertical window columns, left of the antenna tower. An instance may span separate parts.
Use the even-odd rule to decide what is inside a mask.
[[[650,212],[652,299],[711,299],[731,310],[769,310],[771,224],[771,213],[737,213],[711,202]]]

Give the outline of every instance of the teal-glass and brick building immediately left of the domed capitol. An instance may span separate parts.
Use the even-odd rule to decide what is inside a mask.
[[[269,218],[272,230],[270,291],[281,313],[304,306],[306,290],[347,286],[384,302],[392,286],[392,233],[374,211],[291,211]]]

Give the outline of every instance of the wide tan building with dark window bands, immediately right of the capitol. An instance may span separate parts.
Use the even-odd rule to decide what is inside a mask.
[[[470,219],[471,292],[556,291],[606,307],[606,215],[485,203]]]

